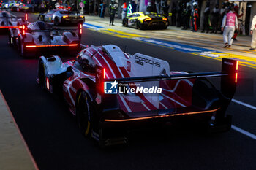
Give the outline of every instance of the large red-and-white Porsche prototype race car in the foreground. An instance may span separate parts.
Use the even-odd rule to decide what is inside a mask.
[[[231,59],[222,59],[222,72],[170,72],[167,61],[91,45],[75,60],[42,56],[38,66],[39,85],[63,97],[82,133],[102,146],[126,143],[127,129],[150,123],[191,119],[212,131],[231,126],[225,112],[238,76]],[[221,90],[207,77],[221,77]]]

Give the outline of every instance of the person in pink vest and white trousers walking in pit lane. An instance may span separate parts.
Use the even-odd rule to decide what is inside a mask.
[[[222,20],[222,31],[225,46],[231,47],[233,42],[233,35],[235,29],[238,28],[238,20],[236,14],[233,12],[233,7],[230,7],[230,11],[224,16]]]

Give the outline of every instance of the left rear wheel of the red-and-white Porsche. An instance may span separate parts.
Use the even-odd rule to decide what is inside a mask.
[[[78,128],[82,134],[86,137],[91,134],[91,101],[89,96],[82,92],[78,95],[77,106],[76,106],[76,116],[78,120]]]

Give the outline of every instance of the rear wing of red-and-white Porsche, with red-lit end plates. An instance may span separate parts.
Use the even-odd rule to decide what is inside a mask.
[[[106,71],[102,67],[97,67],[96,82],[99,85],[99,91],[104,93],[104,82],[118,82],[118,83],[129,83],[129,82],[150,82],[160,80],[181,80],[181,79],[192,79],[192,78],[208,78],[208,77],[221,77],[221,93],[227,98],[233,98],[236,92],[236,83],[238,80],[238,61],[230,58],[222,58],[222,71],[221,72],[198,72],[188,74],[173,74],[170,76],[151,76],[151,77],[127,77],[127,78],[116,78],[106,79]]]

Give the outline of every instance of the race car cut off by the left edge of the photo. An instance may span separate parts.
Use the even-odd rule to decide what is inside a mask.
[[[0,10],[0,31],[1,29],[7,30],[8,28],[22,28],[26,20],[17,18],[7,11]]]

